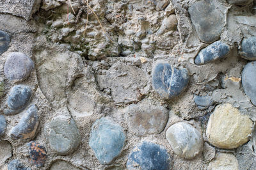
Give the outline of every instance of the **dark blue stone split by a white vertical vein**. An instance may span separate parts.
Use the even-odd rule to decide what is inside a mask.
[[[188,70],[168,63],[157,63],[152,70],[152,86],[161,98],[169,99],[182,93],[189,83]]]

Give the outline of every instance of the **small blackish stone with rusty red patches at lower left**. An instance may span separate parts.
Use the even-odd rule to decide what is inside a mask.
[[[29,159],[31,164],[35,164],[36,167],[43,167],[47,158],[47,152],[41,144],[36,141],[28,143],[29,146]]]

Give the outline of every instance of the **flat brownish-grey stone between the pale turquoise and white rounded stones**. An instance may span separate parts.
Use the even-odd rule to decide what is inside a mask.
[[[126,114],[129,130],[139,136],[160,134],[168,121],[167,109],[148,100],[129,105]]]

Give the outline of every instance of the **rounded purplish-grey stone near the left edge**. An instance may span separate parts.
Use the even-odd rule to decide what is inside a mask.
[[[24,80],[34,68],[33,61],[22,52],[11,52],[4,64],[4,75],[7,79]]]

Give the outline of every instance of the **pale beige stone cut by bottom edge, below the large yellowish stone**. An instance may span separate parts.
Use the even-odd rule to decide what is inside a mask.
[[[231,153],[217,153],[214,160],[212,160],[207,167],[208,170],[225,170],[232,169],[238,170],[238,162],[234,155]]]

